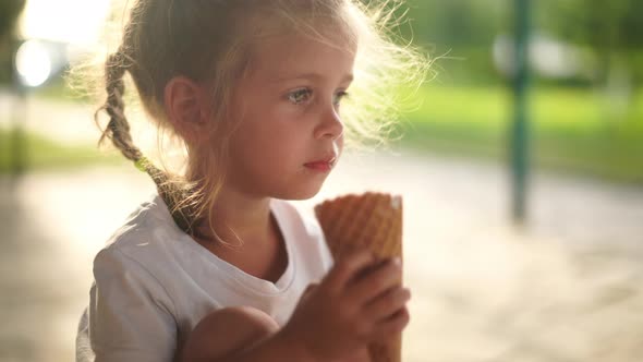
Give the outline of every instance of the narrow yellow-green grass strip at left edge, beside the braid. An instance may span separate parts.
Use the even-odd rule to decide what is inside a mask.
[[[50,140],[31,133],[17,134],[25,147],[23,155],[25,170],[69,169],[96,164],[118,165],[123,162],[119,155],[106,155],[93,145],[62,146]],[[14,172],[14,145],[16,133],[0,129],[0,174]]]

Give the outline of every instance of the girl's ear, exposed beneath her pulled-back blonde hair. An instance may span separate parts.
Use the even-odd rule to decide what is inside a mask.
[[[168,120],[185,141],[197,143],[208,134],[208,108],[203,87],[185,76],[174,76],[165,88]]]

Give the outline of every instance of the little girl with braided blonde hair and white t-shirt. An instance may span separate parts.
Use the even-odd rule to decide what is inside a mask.
[[[333,261],[316,219],[286,201],[319,191],[344,133],[384,138],[395,99],[378,89],[423,77],[422,57],[383,34],[393,11],[354,0],[133,2],[105,67],[101,141],[158,193],[94,261],[77,361],[368,361],[367,343],[404,328],[399,261],[366,251]],[[134,145],[125,73],[155,124],[183,142],[182,172]]]

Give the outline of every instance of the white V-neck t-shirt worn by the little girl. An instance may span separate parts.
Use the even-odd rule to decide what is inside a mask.
[[[288,251],[288,267],[275,283],[195,242],[154,194],[94,260],[76,361],[172,361],[195,325],[226,306],[250,305],[284,325],[308,283],[328,273],[332,257],[313,215],[275,198],[270,209]]]

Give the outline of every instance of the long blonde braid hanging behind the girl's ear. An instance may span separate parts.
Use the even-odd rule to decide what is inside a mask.
[[[98,141],[100,145],[106,137],[110,138],[113,145],[121,150],[125,158],[135,162],[135,166],[148,173],[157,185],[159,195],[163,198],[177,226],[191,236],[201,236],[193,230],[195,212],[185,201],[189,192],[179,188],[177,182],[172,182],[167,172],[160,170],[149,159],[143,156],[138,147],[132,141],[130,133],[130,123],[125,118],[125,102],[123,95],[125,93],[125,82],[123,76],[128,71],[129,59],[122,49],[109,56],[105,65],[105,82],[107,89],[107,101],[98,109],[96,114],[105,110],[109,114],[109,123],[102,131]]]

